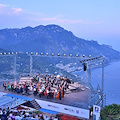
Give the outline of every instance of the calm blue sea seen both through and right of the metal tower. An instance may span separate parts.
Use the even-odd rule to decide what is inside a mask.
[[[79,72],[77,75],[81,76]],[[96,90],[98,85],[102,86],[102,67],[91,69],[91,84]],[[104,93],[106,105],[120,104],[120,61],[104,67]]]

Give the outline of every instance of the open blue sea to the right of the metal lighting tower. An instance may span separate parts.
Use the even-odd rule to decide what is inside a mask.
[[[104,68],[104,93],[107,105],[120,104],[120,61],[112,62]]]

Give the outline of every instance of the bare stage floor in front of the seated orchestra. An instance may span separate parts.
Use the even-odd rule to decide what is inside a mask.
[[[81,90],[81,91],[75,91],[75,92],[71,92],[69,94],[66,93],[64,95],[64,98],[62,98],[61,100],[56,99],[56,98],[49,99],[45,96],[40,98],[39,95],[34,96],[32,94],[32,92],[30,95],[22,95],[21,93],[17,94],[16,92],[4,90],[2,87],[0,87],[0,92],[15,94],[15,95],[19,95],[19,96],[25,96],[25,97],[29,97],[29,98],[59,103],[59,104],[78,107],[78,108],[89,109],[88,108],[88,88],[85,88],[85,87],[84,87],[84,90]]]

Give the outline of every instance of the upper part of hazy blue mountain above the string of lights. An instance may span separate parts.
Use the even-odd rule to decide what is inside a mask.
[[[0,48],[11,51],[60,54],[104,55],[109,60],[120,59],[120,52],[97,41],[76,37],[58,25],[0,30]]]

